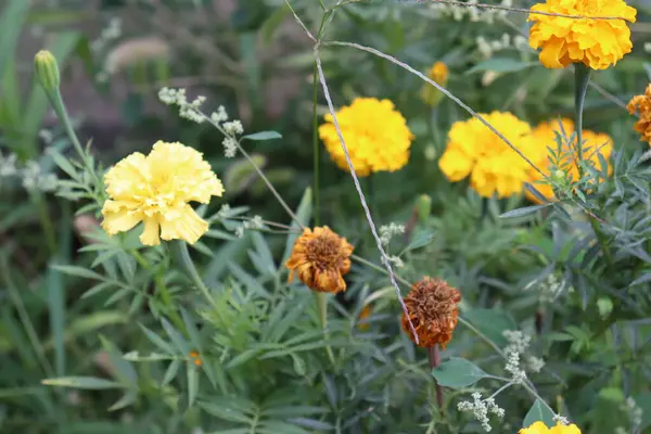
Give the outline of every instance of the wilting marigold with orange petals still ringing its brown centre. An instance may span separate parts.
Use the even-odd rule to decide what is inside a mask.
[[[290,269],[289,281],[294,278],[294,272],[298,272],[298,279],[315,291],[346,291],[344,275],[350,270],[353,246],[329,227],[314,231],[306,228],[285,263]]]

